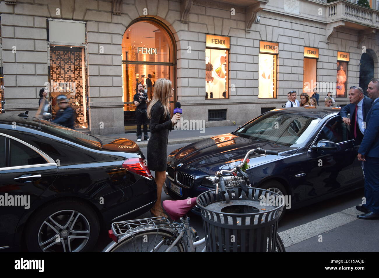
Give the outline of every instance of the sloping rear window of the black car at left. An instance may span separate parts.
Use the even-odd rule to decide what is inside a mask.
[[[40,120],[41,121],[41,129],[51,135],[56,137],[60,137],[62,139],[71,141],[73,143],[77,143],[81,146],[85,146],[91,149],[101,149],[102,142],[91,135],[76,131],[74,129],[70,129],[68,127],[61,126],[59,124],[55,124],[49,121]]]

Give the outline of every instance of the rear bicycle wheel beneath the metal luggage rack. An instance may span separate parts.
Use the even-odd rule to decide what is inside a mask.
[[[176,238],[171,240],[172,236],[172,233],[163,230],[142,231],[121,241],[110,252],[165,252],[170,247],[169,242]],[[185,242],[180,240],[170,252],[186,252]]]

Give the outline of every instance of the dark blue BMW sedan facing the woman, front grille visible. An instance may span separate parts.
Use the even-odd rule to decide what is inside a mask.
[[[261,147],[279,156],[255,155],[248,169],[254,187],[288,196],[296,208],[363,186],[362,162],[340,109],[298,107],[266,112],[230,134],[203,139],[168,156],[165,191],[174,199],[215,188],[214,175]],[[225,177],[226,186],[235,180]],[[198,213],[196,208],[195,213]]]

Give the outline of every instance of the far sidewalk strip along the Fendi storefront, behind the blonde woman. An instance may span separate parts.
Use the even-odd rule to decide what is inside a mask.
[[[215,135],[227,134],[235,131],[238,126],[216,126],[216,127],[206,127],[204,133],[200,133],[200,130],[172,130],[168,135],[168,144],[183,144],[183,143],[193,143],[197,140],[203,138],[209,138]],[[140,148],[147,146],[147,141],[137,142],[137,137],[135,133],[124,133],[124,134],[111,134],[111,135],[96,135],[103,144],[110,143],[117,138],[126,138],[135,141]],[[149,132],[150,137],[150,132]]]

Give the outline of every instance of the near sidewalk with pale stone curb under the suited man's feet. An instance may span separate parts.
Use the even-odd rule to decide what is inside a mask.
[[[379,220],[357,219],[355,206],[279,233],[287,252],[378,252]]]

